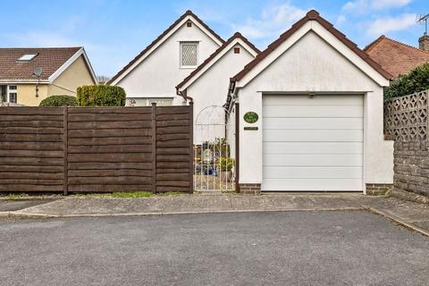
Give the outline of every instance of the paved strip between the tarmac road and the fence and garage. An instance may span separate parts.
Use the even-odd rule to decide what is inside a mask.
[[[2,202],[0,201],[0,208]],[[69,197],[13,212],[3,216],[102,216],[135,214],[199,214],[249,211],[298,210],[371,210],[399,223],[427,231],[429,205],[398,198],[371,197],[360,194],[279,194],[262,196],[205,196],[151,198]]]

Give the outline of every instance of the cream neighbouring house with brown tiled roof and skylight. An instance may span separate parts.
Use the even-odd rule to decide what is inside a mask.
[[[0,97],[9,104],[38,106],[53,95],[76,96],[97,83],[82,46],[0,48]]]

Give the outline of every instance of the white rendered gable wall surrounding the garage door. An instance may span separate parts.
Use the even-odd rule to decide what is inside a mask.
[[[240,183],[262,181],[262,120],[258,130],[242,114],[262,114],[263,93],[361,93],[364,105],[364,177],[366,183],[392,183],[393,142],[383,140],[383,87],[314,32],[307,33],[265,71],[239,89]]]

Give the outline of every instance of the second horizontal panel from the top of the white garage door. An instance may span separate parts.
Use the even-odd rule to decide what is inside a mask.
[[[361,105],[264,105],[263,113],[265,118],[364,116]]]

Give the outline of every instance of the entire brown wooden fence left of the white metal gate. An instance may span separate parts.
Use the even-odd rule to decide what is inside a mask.
[[[1,107],[0,191],[192,191],[192,105]]]

